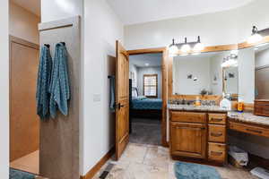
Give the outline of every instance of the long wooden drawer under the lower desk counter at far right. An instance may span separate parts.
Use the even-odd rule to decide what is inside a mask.
[[[229,128],[231,130],[235,130],[235,131],[239,131],[239,132],[247,132],[247,133],[251,133],[254,135],[269,137],[269,129],[265,128],[265,127],[230,122]]]

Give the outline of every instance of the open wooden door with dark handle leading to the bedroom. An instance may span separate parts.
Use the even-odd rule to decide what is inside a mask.
[[[116,159],[129,142],[129,55],[117,41],[116,59]]]

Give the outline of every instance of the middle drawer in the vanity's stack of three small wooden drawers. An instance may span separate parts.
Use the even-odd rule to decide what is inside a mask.
[[[226,141],[226,126],[209,124],[208,141],[224,143]]]

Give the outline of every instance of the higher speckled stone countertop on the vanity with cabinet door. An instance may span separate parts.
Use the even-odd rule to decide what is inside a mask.
[[[170,110],[180,110],[180,111],[204,111],[204,112],[228,112],[227,108],[219,106],[200,106],[195,107],[194,105],[175,105],[169,104],[168,108]]]

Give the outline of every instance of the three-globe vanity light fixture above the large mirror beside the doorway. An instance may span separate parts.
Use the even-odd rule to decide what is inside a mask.
[[[201,51],[204,50],[204,44],[201,43],[201,38],[198,36],[197,41],[195,42],[187,42],[187,38],[185,38],[184,43],[175,43],[175,39],[172,40],[172,44],[169,45],[169,55],[176,56],[178,55],[178,51],[180,48],[181,55],[188,55],[188,53],[192,53],[194,55],[199,55]]]

